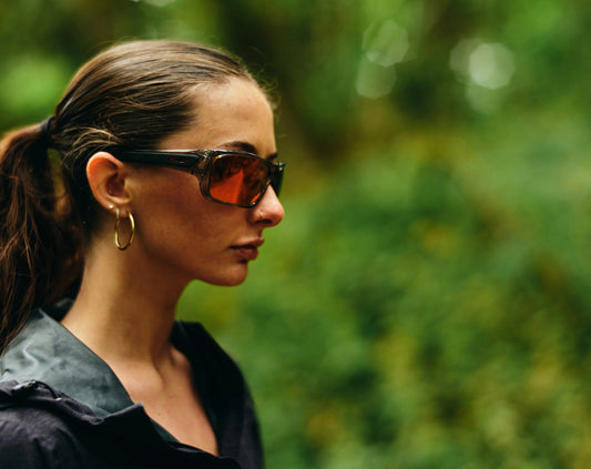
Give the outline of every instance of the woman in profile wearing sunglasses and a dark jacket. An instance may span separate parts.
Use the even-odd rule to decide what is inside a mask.
[[[276,156],[248,72],[172,41],[102,52],[6,136],[0,467],[263,466],[240,370],[175,305],[246,278],[284,215]]]

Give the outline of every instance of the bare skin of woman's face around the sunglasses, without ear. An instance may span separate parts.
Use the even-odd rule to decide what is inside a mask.
[[[276,154],[273,112],[255,84],[233,78],[197,93],[193,125],[165,139],[162,150],[242,150],[266,159]],[[147,265],[171,281],[242,283],[264,241],[263,230],[283,220],[272,187],[256,206],[241,208],[205,198],[195,176],[174,169],[137,165],[134,175],[129,188],[136,238],[130,249],[142,249]]]

